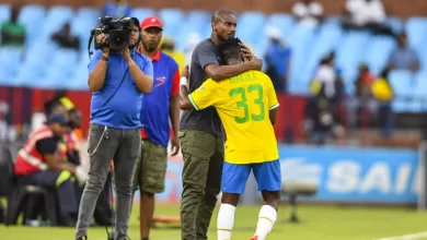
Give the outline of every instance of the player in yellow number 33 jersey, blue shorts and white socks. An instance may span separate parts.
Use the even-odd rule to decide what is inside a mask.
[[[232,38],[218,46],[226,64],[242,62],[240,44],[238,38]],[[251,170],[265,202],[251,239],[264,240],[276,221],[281,189],[279,154],[273,129],[279,104],[272,80],[259,71],[247,71],[219,82],[207,80],[191,95],[186,84],[183,79],[181,108],[200,110],[214,106],[226,129],[218,240],[231,239],[235,207]]]

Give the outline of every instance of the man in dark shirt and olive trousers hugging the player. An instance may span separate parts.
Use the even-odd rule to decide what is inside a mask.
[[[211,37],[199,43],[192,56],[188,92],[197,89],[207,79],[221,81],[250,70],[261,70],[262,61],[244,48],[247,61],[220,65],[217,46],[234,37],[236,17],[228,10],[215,12]],[[183,77],[187,77],[183,74]],[[180,85],[186,84],[186,80]],[[185,92],[186,93],[186,92]],[[183,99],[183,98],[182,98]],[[181,200],[182,239],[207,239],[210,218],[220,192],[224,153],[222,125],[214,107],[201,111],[186,110],[181,119],[180,140],[184,157],[183,194]]]

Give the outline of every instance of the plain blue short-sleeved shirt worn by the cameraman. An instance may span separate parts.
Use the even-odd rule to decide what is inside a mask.
[[[101,56],[102,50],[95,51],[89,63],[89,73],[95,69]],[[145,74],[153,75],[149,58],[139,52],[132,52],[130,57]],[[135,84],[130,71],[127,72],[122,86],[118,87],[126,69],[128,69],[127,62],[120,53],[109,53],[104,86],[92,93],[91,123],[116,129],[138,129],[141,127],[142,93]],[[116,89],[117,93],[112,97]],[[111,99],[104,105],[108,98]]]

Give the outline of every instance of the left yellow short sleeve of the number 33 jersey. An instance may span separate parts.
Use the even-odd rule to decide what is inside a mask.
[[[214,80],[209,79],[197,89],[195,89],[188,99],[192,103],[194,109],[201,110],[210,106],[215,106],[218,103],[217,86]]]

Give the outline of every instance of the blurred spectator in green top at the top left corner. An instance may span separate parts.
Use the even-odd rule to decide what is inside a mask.
[[[25,45],[25,26],[18,22],[21,5],[12,5],[11,20],[1,25],[1,46],[23,47]]]

